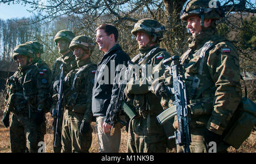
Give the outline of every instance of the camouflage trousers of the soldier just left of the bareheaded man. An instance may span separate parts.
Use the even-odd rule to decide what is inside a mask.
[[[84,114],[65,110],[61,133],[61,153],[89,153],[92,144],[92,129],[86,134],[79,132]]]

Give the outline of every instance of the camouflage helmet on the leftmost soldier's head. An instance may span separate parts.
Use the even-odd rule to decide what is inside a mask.
[[[27,44],[20,44],[15,47],[15,49],[13,50],[14,61],[16,61],[16,56],[18,56],[18,55],[23,55],[28,58],[34,58],[34,52],[31,49],[31,46],[27,45]]]

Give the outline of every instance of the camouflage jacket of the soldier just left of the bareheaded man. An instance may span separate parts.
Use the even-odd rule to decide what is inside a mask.
[[[64,79],[64,109],[84,114],[84,119],[92,119],[92,89],[97,65],[90,58],[77,62],[78,68],[70,71]]]

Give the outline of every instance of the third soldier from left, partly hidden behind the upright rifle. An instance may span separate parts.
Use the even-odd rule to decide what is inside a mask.
[[[73,55],[72,51],[69,50],[69,44],[72,41],[72,39],[75,37],[75,34],[68,30],[61,30],[57,32],[56,36],[54,37],[54,41],[57,45],[57,48],[59,50],[59,54],[61,54],[61,57],[57,58],[55,63],[53,64],[52,68],[52,83],[51,83],[51,94],[53,98],[53,105],[51,107],[50,112],[55,111],[56,104],[57,104],[57,92],[53,90],[53,84],[56,80],[60,80],[60,72],[61,72],[61,64],[64,64],[64,76],[68,74],[69,71],[74,70],[77,68],[75,55]],[[54,113],[54,112],[53,112]],[[60,130],[57,133],[56,138],[56,146],[53,147],[53,151],[55,153],[60,153],[61,151],[61,124],[63,120],[63,112],[61,112],[62,115],[60,116],[60,126],[58,129]],[[56,131],[56,119],[53,120],[53,131],[55,133]]]

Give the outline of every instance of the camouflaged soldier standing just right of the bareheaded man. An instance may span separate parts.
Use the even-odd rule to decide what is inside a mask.
[[[149,89],[156,75],[162,76],[164,73],[163,60],[170,58],[170,54],[165,49],[159,48],[164,30],[165,28],[158,21],[142,19],[131,31],[137,37],[139,45],[139,54],[132,61],[138,66],[152,66],[152,74],[143,79],[131,78],[124,90],[127,102],[137,113],[129,122],[127,141],[129,153],[166,152],[164,130],[156,119],[163,108],[160,99]],[[136,83],[138,80],[139,84]]]

